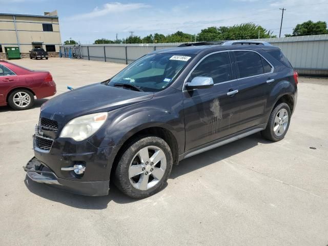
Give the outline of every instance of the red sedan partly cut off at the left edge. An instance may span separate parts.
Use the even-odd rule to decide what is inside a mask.
[[[34,71],[0,60],[0,106],[16,110],[29,109],[34,96],[44,98],[56,94],[56,84],[51,73]]]

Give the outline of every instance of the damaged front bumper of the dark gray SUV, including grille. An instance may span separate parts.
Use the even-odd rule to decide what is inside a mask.
[[[36,182],[87,196],[104,196],[109,192],[113,161],[120,146],[95,147],[88,140],[58,138],[62,124],[40,117],[33,135],[34,158],[24,170]],[[76,174],[74,165],[85,171]]]

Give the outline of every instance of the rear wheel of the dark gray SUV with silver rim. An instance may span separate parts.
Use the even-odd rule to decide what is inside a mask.
[[[290,122],[291,110],[288,104],[278,104],[271,112],[267,128],[261,131],[261,134],[264,138],[271,141],[280,141],[285,137],[289,129]]]

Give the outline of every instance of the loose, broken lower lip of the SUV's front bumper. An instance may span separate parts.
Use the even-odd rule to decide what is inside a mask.
[[[45,163],[33,157],[23,167],[27,176],[35,182],[47,183],[61,190],[86,196],[106,196],[109,192],[109,180],[106,181],[73,181],[59,178]]]

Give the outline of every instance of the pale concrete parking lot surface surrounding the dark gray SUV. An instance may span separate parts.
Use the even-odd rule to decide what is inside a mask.
[[[49,58],[57,94],[125,65]],[[255,134],[174,166],[158,194],[134,200],[111,185],[85,197],[27,180],[39,107],[0,107],[0,245],[327,245],[328,79],[300,78],[289,132]],[[314,147],[315,149],[310,149]]]

